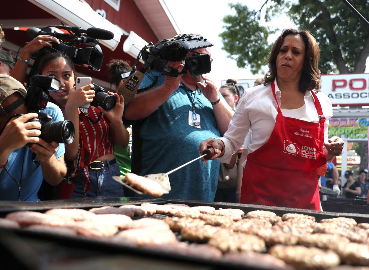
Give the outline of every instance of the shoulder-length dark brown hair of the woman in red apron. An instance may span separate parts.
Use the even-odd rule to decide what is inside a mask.
[[[305,64],[302,69],[299,82],[299,90],[303,93],[310,90],[320,91],[321,76],[318,67],[320,51],[319,45],[315,38],[307,30],[284,29],[282,34],[275,41],[270,57],[265,63],[268,63],[269,70],[264,76],[265,83],[273,82],[277,76],[276,59],[279,54],[280,47],[287,35],[299,35],[305,42]]]

